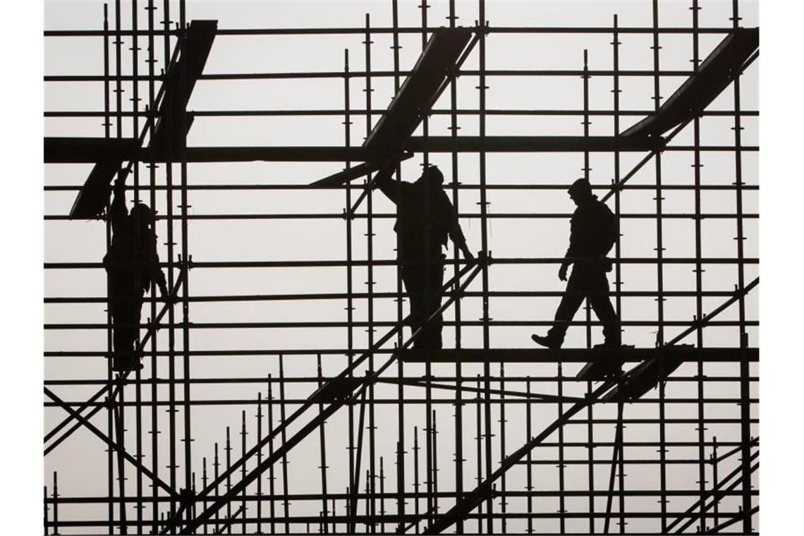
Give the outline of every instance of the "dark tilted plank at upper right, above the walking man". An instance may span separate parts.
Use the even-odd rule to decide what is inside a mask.
[[[741,28],[730,33],[701,63],[661,108],[627,129],[623,136],[656,137],[704,111],[712,100],[742,71],[759,47],[759,29]]]

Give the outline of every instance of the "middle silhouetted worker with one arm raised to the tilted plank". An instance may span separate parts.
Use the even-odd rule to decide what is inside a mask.
[[[474,256],[466,247],[457,212],[444,191],[441,170],[430,166],[416,182],[395,182],[391,179],[394,166],[379,171],[375,186],[396,203],[396,258],[410,297],[410,324],[415,331],[441,307],[445,259],[441,247],[447,245],[447,236],[467,260],[474,260]],[[423,325],[413,348],[441,348],[443,325],[440,314]]]

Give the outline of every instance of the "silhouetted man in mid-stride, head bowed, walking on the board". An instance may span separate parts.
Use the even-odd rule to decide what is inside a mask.
[[[572,183],[568,194],[578,207],[572,214],[569,248],[558,272],[560,280],[567,280],[570,264],[575,266],[567,282],[567,292],[556,310],[556,322],[547,337],[534,334],[531,338],[541,346],[560,348],[569,322],[586,298],[603,324],[605,342],[597,347],[616,348],[621,346],[620,321],[609,301],[609,280],[605,274],[611,272],[611,261],[606,255],[617,241],[617,217],[605,203],[597,200],[589,181],[583,178]],[[582,259],[572,260],[572,257]]]

